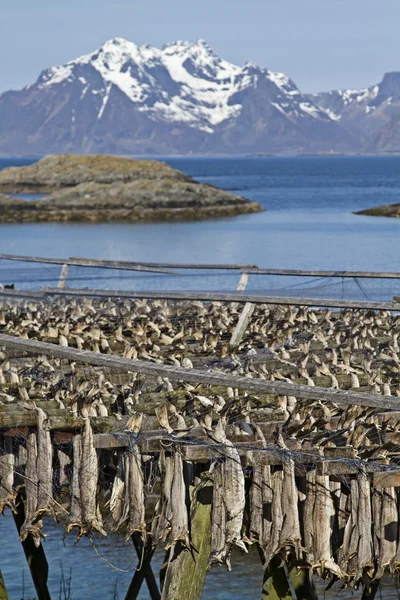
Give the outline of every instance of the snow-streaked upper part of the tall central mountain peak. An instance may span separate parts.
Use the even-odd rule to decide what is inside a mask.
[[[159,49],[114,38],[95,52],[47,69],[39,78],[39,87],[76,80],[82,85],[83,99],[91,85],[85,69],[94,69],[101,77],[100,86],[92,85],[92,94],[103,98],[98,119],[116,86],[135,109],[153,121],[186,123],[212,133],[220,123],[240,115],[240,94],[264,81],[273,86],[270,103],[288,118],[300,115],[330,120],[328,113],[307,101],[283,73],[253,63],[234,65],[220,58],[204,40],[178,41]]]

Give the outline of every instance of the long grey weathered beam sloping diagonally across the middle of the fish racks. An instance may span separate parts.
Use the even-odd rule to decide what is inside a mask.
[[[266,381],[250,377],[238,377],[231,374],[204,372],[197,369],[185,369],[169,365],[160,365],[137,359],[127,359],[110,354],[99,354],[88,350],[66,348],[56,344],[26,340],[0,334],[0,347],[18,349],[30,354],[47,355],[67,360],[78,361],[94,366],[119,371],[139,372],[153,377],[168,377],[171,381],[186,381],[205,385],[226,386],[242,390],[250,390],[259,394],[276,396],[295,396],[306,400],[324,400],[336,404],[368,406],[381,410],[399,410],[400,399],[395,396],[378,396],[370,393],[357,393],[352,390],[311,387],[296,385],[286,381]],[[17,425],[15,425],[17,426]]]

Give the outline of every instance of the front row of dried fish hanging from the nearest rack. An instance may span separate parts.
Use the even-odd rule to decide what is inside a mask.
[[[43,429],[44,416],[38,409],[38,426],[26,439],[1,436],[0,510],[13,510],[17,494],[25,490],[21,540],[32,536],[39,545],[43,515],[49,514],[62,518],[66,531],[79,537],[121,531],[129,538],[139,532],[143,538],[151,534],[154,544],[179,543],[193,550],[188,495],[195,493],[199,472],[183,461],[178,443],[142,456],[136,418],[124,452],[99,451],[88,418],[72,443],[60,447]],[[320,577],[347,584],[400,570],[400,489],[374,488],[364,463],[352,477],[330,478],[315,468],[300,474],[295,454],[282,450],[280,466],[253,460],[244,470],[237,447],[226,437],[224,419],[209,438],[214,448],[207,466],[213,480],[209,566],[230,569],[233,548],[246,552],[256,543],[266,566],[276,555],[290,556]],[[112,476],[106,478],[106,470]],[[150,488],[157,490],[158,501],[149,512]]]

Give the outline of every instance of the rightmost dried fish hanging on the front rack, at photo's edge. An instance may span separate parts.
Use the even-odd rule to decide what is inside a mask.
[[[386,569],[393,567],[399,517],[394,488],[374,488],[372,493],[372,521],[377,570],[375,579],[381,579]]]

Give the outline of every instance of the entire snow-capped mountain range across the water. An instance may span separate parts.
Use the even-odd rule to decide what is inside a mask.
[[[0,96],[2,154],[396,151],[400,72],[366,89],[304,94],[203,40],[159,49],[114,38]]]

